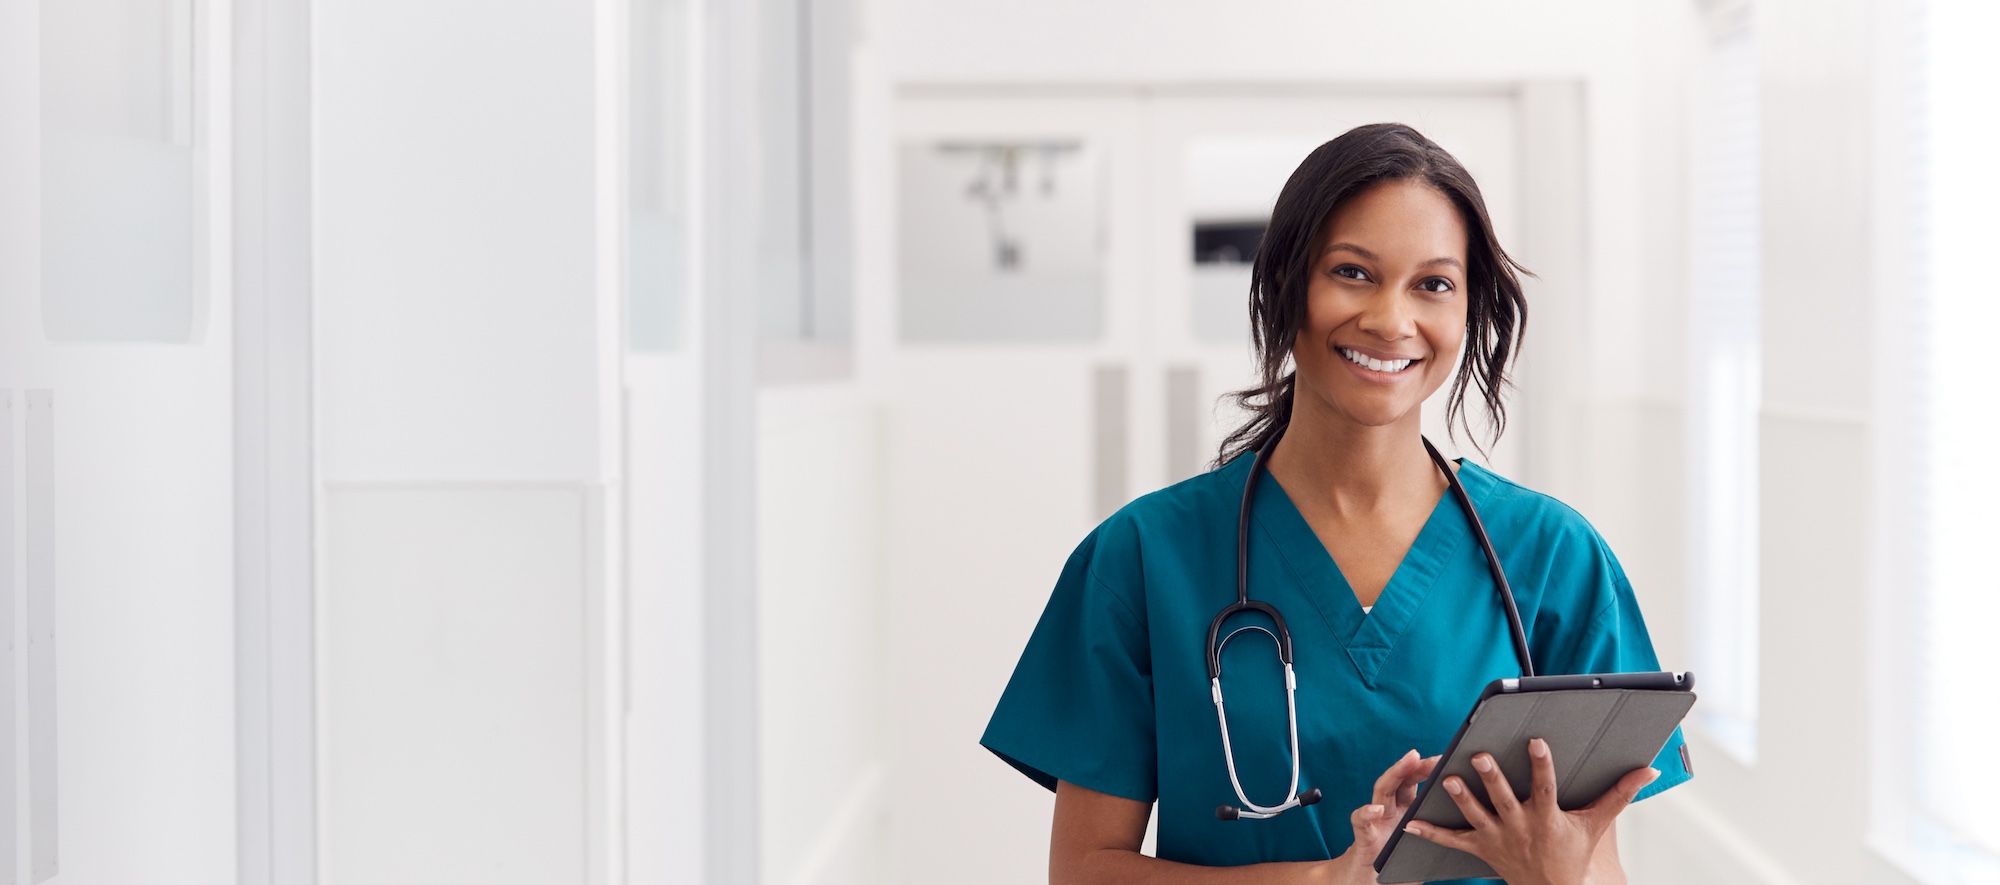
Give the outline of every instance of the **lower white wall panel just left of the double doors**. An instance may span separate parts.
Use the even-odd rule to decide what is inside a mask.
[[[880,410],[844,386],[760,400],[762,875],[832,885],[884,835]]]

